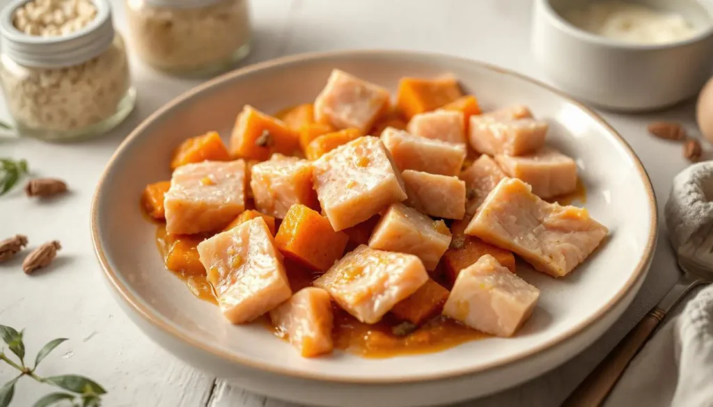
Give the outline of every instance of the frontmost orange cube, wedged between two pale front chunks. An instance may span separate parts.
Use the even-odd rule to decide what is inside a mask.
[[[391,314],[396,318],[420,325],[432,316],[441,314],[443,304],[448,299],[447,289],[441,287],[434,279],[428,279],[426,284],[416,290],[410,297],[394,305]]]

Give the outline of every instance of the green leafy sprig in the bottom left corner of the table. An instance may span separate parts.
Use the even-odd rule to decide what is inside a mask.
[[[0,407],[8,407],[15,393],[15,383],[23,376],[34,378],[39,383],[45,383],[50,386],[55,386],[63,389],[56,393],[50,393],[43,398],[40,398],[34,407],[49,407],[59,401],[68,401],[75,407],[99,407],[101,405],[101,396],[106,393],[102,386],[99,386],[96,381],[76,374],[64,374],[61,376],[40,377],[36,370],[40,362],[50,354],[59,344],[66,341],[66,338],[58,338],[49,341],[45,346],[37,352],[35,363],[32,367],[25,364],[25,344],[22,341],[24,331],[17,331],[10,326],[0,325],[0,338],[7,344],[8,349],[15,354],[19,362],[13,361],[4,353],[4,349],[0,350],[0,362],[5,362],[9,366],[19,371],[18,376],[11,381],[7,381],[0,386]]]

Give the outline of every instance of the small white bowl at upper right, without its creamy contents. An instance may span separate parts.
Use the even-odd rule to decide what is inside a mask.
[[[696,0],[647,0],[702,29],[685,41],[623,43],[580,30],[563,12],[588,0],[535,0],[532,47],[558,88],[602,108],[644,111],[695,96],[713,70],[713,11]]]

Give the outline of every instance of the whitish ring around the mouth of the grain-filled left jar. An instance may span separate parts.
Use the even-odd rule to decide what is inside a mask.
[[[13,24],[16,9],[30,0],[14,0],[0,11],[2,51],[22,66],[63,68],[76,66],[106,51],[114,39],[108,0],[91,0],[96,17],[87,26],[62,36],[31,36]]]

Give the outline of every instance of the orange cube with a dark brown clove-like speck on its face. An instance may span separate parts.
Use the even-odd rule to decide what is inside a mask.
[[[230,136],[230,154],[236,158],[267,160],[272,153],[292,155],[299,136],[282,120],[250,105],[242,109]]]

